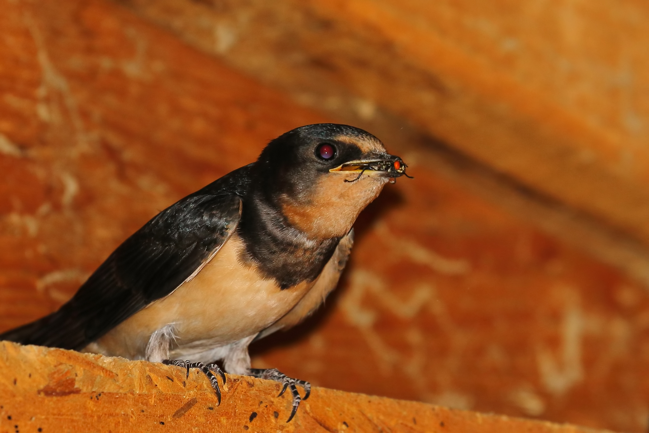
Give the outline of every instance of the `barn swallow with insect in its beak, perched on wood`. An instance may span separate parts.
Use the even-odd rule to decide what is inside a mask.
[[[323,123],[172,204],[125,240],[58,311],[0,340],[278,380],[291,421],[310,385],[251,369],[249,344],[297,325],[338,282],[352,225],[406,164],[369,132]],[[407,176],[407,175],[406,175]],[[213,364],[204,364],[212,362]],[[281,395],[281,393],[280,393]],[[287,422],[288,422],[287,421]]]

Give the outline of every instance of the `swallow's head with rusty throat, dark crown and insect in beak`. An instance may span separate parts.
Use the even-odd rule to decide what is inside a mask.
[[[344,236],[390,179],[406,175],[406,164],[378,138],[334,123],[282,134],[255,166],[254,188],[310,238]]]

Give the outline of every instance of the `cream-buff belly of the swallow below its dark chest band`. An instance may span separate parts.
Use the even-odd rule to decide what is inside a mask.
[[[280,290],[240,260],[243,241],[232,235],[190,281],[123,321],[97,341],[101,352],[143,357],[149,336],[165,325],[175,328],[175,345],[219,346],[251,336],[285,315],[315,282]]]

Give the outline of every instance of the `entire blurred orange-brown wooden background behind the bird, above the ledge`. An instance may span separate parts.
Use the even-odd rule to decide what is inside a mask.
[[[0,5],[0,330],[58,308],[131,232],[268,140],[339,121],[415,179],[361,216],[339,290],[254,365],[649,427],[648,5]]]

